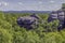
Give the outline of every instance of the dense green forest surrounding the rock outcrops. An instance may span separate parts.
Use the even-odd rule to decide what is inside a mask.
[[[49,14],[39,13],[39,28],[26,30],[16,24],[17,17],[31,13],[0,12],[0,43],[65,43],[65,30],[57,31],[58,20],[48,23]]]

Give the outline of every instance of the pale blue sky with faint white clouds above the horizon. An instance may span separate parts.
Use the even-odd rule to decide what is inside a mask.
[[[65,0],[0,0],[0,11],[56,11]]]

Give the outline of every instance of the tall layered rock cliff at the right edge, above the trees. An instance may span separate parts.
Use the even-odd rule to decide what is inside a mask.
[[[53,22],[55,19],[60,20],[60,25],[57,27],[58,30],[65,28],[65,11],[55,11],[52,12],[48,18],[48,22]]]

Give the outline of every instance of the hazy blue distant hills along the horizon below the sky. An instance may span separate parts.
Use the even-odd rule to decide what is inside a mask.
[[[4,13],[51,13],[51,11],[3,11]]]

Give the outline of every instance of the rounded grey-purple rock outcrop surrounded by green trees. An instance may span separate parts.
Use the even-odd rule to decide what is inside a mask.
[[[39,17],[36,14],[17,18],[17,25],[27,29],[38,28]]]

